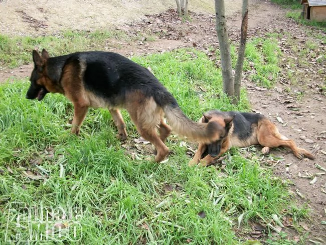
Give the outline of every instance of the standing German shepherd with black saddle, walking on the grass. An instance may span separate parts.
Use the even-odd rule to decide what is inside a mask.
[[[88,107],[104,107],[110,110],[122,140],[127,133],[119,108],[128,111],[139,134],[154,145],[156,162],[169,153],[164,142],[171,128],[164,114],[172,129],[189,139],[209,144],[219,137],[215,121],[190,120],[151,72],[119,54],[94,51],[49,57],[43,49],[41,56],[33,51],[33,61],[26,98],[42,100],[48,92],[64,94],[74,105],[71,133],[78,135]]]

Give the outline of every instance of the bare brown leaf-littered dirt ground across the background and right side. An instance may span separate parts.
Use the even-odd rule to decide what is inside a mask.
[[[23,0],[1,1],[0,29],[2,33],[9,35],[43,35],[66,29],[93,30],[110,27],[127,30],[129,35],[138,31],[165,33],[156,41],[142,40],[135,43],[119,41],[121,48],[117,49],[114,46],[110,48],[111,51],[126,56],[164,52],[179,47],[196,47],[209,52],[209,46],[218,47],[212,1],[202,1],[202,4],[199,1],[190,1],[190,10],[196,10],[196,13],[191,12],[192,21],[186,23],[177,18],[175,11],[168,10],[169,7],[174,7],[174,1],[154,1],[155,3],[151,5],[148,5],[149,1],[111,1],[111,4],[104,2],[69,0],[56,1],[54,5],[52,1],[29,1],[27,6]],[[193,2],[197,5],[196,3],[193,5]],[[234,42],[237,42],[240,35],[241,2],[226,1],[229,36]],[[83,8],[79,8],[81,5]],[[103,5],[109,7],[103,8]],[[99,8],[101,11],[98,11]],[[85,18],[87,22],[83,21]],[[287,33],[298,45],[311,40],[318,43],[318,52],[324,54],[326,45],[311,36],[311,32],[326,35],[285,18],[285,11],[269,1],[250,1],[249,39],[257,36],[264,38],[266,33]],[[275,175],[290,180],[294,198],[311,208],[311,220],[308,223],[300,223],[302,232],[309,233],[305,244],[310,244],[308,239],[325,244],[326,226],[320,222],[326,220],[326,193],[322,191],[326,191],[326,177],[325,174],[315,174],[325,172],[318,169],[316,164],[326,168],[326,97],[320,88],[325,81],[326,66],[313,59],[309,60],[308,64],[299,63],[296,54],[288,47],[289,40],[278,38],[278,42],[284,58],[283,69],[275,87],[269,90],[257,87],[248,79],[250,71],[244,72],[243,86],[247,89],[253,111],[268,116],[275,122],[280,132],[292,138],[299,147],[316,152],[316,159],[312,161],[298,160],[288,151],[274,150],[272,152],[274,155],[283,156],[285,160],[281,162],[263,160],[262,164],[270,165],[267,167],[272,168]],[[217,66],[220,65],[220,61],[215,62]],[[292,63],[294,67],[289,66]],[[2,70],[0,81],[29,76],[31,70],[32,65]],[[286,72],[297,74],[296,84],[288,81]],[[316,182],[309,184],[314,175],[317,178]],[[302,197],[297,192],[301,193]],[[287,228],[283,231],[291,233],[293,239],[298,237],[298,234]]]

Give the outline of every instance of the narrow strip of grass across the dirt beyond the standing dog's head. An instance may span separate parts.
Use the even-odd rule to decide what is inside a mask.
[[[72,52],[103,50],[119,46],[118,41],[154,41],[155,37],[146,33],[138,33],[130,37],[119,30],[98,30],[95,32],[86,31],[65,31],[58,36],[42,37],[9,37],[0,34],[0,66],[9,68],[17,67],[31,62],[32,51],[35,48],[47,47],[52,56],[63,55]]]

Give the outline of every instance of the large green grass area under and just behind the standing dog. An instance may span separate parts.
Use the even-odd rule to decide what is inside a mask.
[[[182,49],[133,60],[149,66],[194,120],[207,109],[248,109],[245,93],[238,107],[225,98],[221,71],[202,52]],[[28,86],[0,86],[1,244],[17,233],[23,243],[31,234],[44,238],[54,223],[70,229],[55,230],[42,244],[246,244],[235,233],[240,215],[241,227],[248,228],[248,221],[272,222],[273,214],[287,215],[284,208],[293,205],[286,184],[258,158],[243,158],[234,149],[224,170],[190,168],[183,140],[171,136],[169,161],[148,162],[147,148],[134,146],[139,136],[125,112],[127,143],[114,137],[105,109],[90,109],[76,137],[67,125],[70,102],[58,94],[27,100]],[[58,219],[44,222],[41,211]],[[302,211],[295,213],[299,219]]]

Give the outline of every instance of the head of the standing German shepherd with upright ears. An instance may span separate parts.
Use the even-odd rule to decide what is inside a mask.
[[[59,92],[58,85],[51,81],[48,75],[48,52],[43,49],[42,55],[33,50],[34,69],[31,75],[31,86],[26,93],[26,98],[42,100],[49,92]]]

